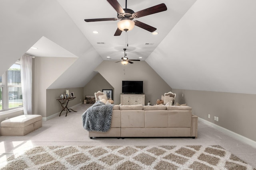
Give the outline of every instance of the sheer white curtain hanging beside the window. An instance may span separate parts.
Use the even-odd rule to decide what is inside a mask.
[[[32,114],[32,56],[24,54],[20,58],[23,110]]]

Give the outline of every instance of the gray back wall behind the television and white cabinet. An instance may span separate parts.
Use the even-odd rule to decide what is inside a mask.
[[[135,61],[133,64],[122,65],[116,61],[103,61],[97,68],[104,79],[114,88],[114,104],[120,104],[122,80],[142,80],[145,94],[145,104],[148,101],[156,104],[165,92],[172,88],[145,62]],[[95,90],[96,91],[96,90]],[[94,94],[94,92],[92,93]]]

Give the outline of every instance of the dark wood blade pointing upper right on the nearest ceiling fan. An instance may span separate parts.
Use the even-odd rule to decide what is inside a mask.
[[[135,12],[134,14],[135,14],[136,18],[140,18],[140,17],[143,17],[143,16],[156,14],[158,12],[162,12],[162,11],[166,11],[166,10],[167,10],[166,5],[164,3],[162,3],[162,4],[159,4],[159,5],[152,6],[150,8],[146,8],[144,10]]]

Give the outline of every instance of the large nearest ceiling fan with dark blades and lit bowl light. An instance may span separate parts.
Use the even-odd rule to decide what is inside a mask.
[[[152,27],[146,23],[140,22],[138,20],[132,21],[134,18],[140,18],[143,16],[148,16],[151,14],[155,14],[158,12],[163,12],[167,10],[167,7],[164,3],[158,4],[156,6],[152,6],[150,8],[146,8],[144,10],[140,10],[138,12],[134,12],[131,9],[127,9],[127,0],[125,1],[125,8],[118,3],[117,0],[107,0],[108,3],[116,10],[117,18],[96,18],[96,19],[85,19],[86,22],[94,22],[94,21],[116,21],[118,22],[118,28],[114,36],[121,35],[122,31],[130,31],[133,29],[134,25],[146,29],[147,31],[154,32],[156,31],[155,27]]]

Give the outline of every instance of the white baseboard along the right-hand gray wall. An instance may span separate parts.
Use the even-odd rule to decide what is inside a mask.
[[[198,121],[201,121],[202,123],[206,124],[206,125],[209,125],[210,127],[213,127],[214,129],[216,129],[217,131],[220,131],[230,137],[233,137],[234,139],[238,140],[238,141],[241,141],[243,143],[246,143],[254,148],[256,148],[256,141],[253,141],[252,139],[249,139],[247,137],[244,137],[242,135],[239,135],[238,133],[235,133],[233,131],[230,131],[224,127],[221,127],[219,125],[216,125],[210,121],[207,121],[207,120],[204,120],[200,117],[198,117]]]

